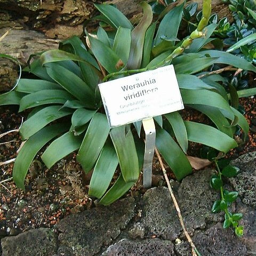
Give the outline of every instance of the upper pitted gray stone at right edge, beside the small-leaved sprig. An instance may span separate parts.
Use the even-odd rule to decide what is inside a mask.
[[[256,208],[256,152],[238,157],[231,164],[239,167],[240,173],[230,182],[242,202]]]

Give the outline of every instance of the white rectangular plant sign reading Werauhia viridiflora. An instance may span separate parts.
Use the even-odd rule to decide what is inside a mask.
[[[183,109],[173,65],[99,84],[110,127]]]

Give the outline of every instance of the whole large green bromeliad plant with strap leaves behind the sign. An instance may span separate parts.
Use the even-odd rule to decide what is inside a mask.
[[[186,157],[188,141],[226,153],[237,146],[233,139],[237,125],[246,138],[249,126],[243,115],[230,107],[228,95],[218,83],[221,76],[205,75],[204,70],[214,63],[251,71],[256,68],[230,53],[203,49],[215,29],[206,26],[210,0],[203,1],[202,19],[185,39],[177,38],[183,4],[168,5],[153,22],[150,5],[142,3],[143,17],[135,28],[116,7],[95,6],[101,13],[96,18],[108,27],[99,27],[97,37],[85,31],[90,47],[78,37],[62,42],[59,50],[44,52],[31,63],[29,71],[37,79],[20,79],[13,91],[0,97],[1,105],[17,104],[19,111],[32,109],[20,129],[25,144],[13,167],[18,187],[25,189],[29,165],[51,142],[42,155],[45,165],[51,168],[78,150],[77,161],[84,172],[93,170],[89,195],[99,198],[99,203],[110,204],[126,193],[138,180],[142,167],[141,122],[110,129],[98,83],[170,63],[185,106],[201,111],[215,126],[183,121],[178,111],[154,117],[156,147],[178,180],[192,170]],[[201,74],[202,79],[198,77]],[[236,96],[230,95],[233,100]],[[121,172],[109,188],[118,164]]]

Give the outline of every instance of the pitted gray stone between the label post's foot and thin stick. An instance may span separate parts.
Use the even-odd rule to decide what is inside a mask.
[[[148,189],[143,201],[145,205],[141,222],[149,235],[154,234],[168,240],[177,238],[181,227],[169,190],[165,187]]]

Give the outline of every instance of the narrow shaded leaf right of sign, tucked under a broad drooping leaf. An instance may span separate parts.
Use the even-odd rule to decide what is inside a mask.
[[[191,108],[194,108],[198,111],[201,111],[203,114],[208,116],[212,122],[217,126],[217,128],[233,138],[233,129],[231,129],[230,124],[226,117],[221,113],[218,108],[206,106],[206,105],[188,105]]]

